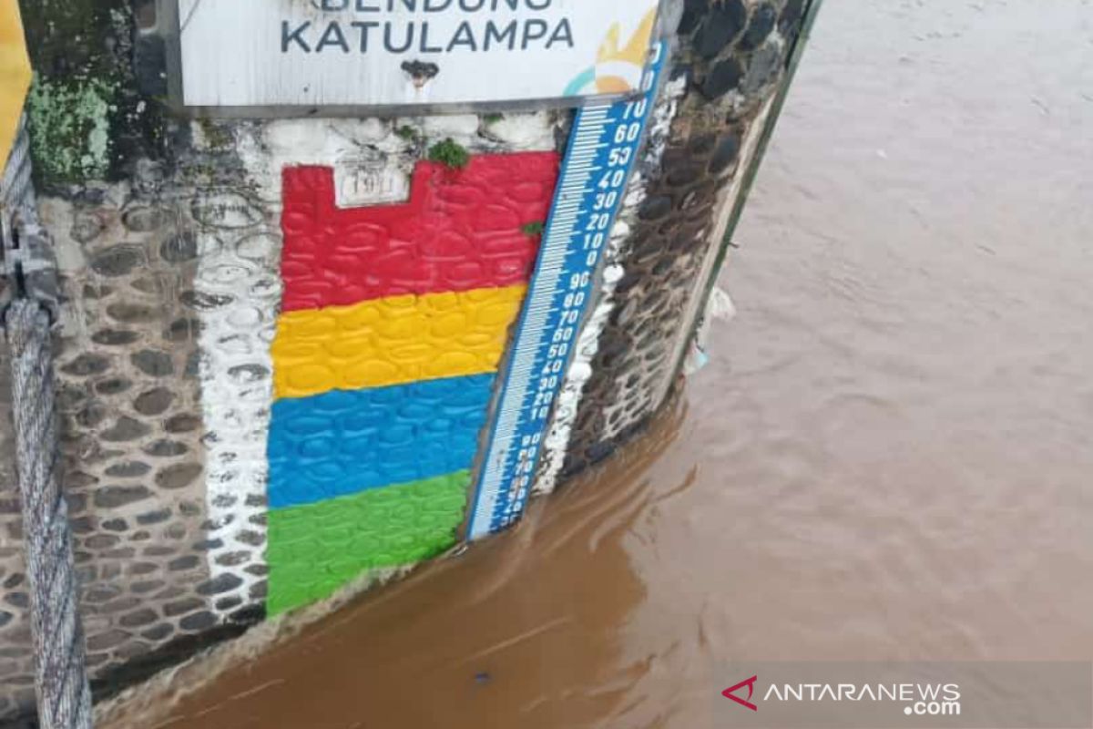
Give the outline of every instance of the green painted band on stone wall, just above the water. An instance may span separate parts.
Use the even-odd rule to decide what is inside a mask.
[[[271,509],[266,560],[277,615],[331,596],[367,569],[409,565],[456,542],[470,472]]]

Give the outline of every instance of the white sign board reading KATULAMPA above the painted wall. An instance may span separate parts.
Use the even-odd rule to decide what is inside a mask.
[[[639,86],[658,0],[177,0],[187,106],[559,99]]]

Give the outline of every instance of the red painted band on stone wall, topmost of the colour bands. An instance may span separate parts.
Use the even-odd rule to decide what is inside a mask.
[[[463,169],[421,162],[410,201],[339,210],[333,169],[286,167],[286,311],[400,294],[526,283],[557,181],[554,152],[484,154]]]

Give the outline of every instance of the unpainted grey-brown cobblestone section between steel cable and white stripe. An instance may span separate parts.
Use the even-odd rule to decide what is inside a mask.
[[[197,250],[177,201],[142,193],[154,180],[40,203],[62,259],[62,482],[93,674],[189,632],[167,607],[209,578],[179,561],[205,539]]]

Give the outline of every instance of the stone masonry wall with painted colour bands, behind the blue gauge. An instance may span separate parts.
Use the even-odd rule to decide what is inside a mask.
[[[560,472],[607,457],[665,402],[804,4],[666,0],[661,32],[673,40],[671,64],[611,235],[600,298],[555,410],[540,491],[549,491]],[[524,205],[538,211],[549,201],[551,184],[543,180],[553,179],[551,165],[572,118],[568,111],[539,111],[175,119],[156,101],[163,57],[149,31],[155,24],[152,5],[24,2],[39,73],[28,105],[38,209],[61,278],[56,378],[62,486],[98,695],[207,640],[237,634],[268,609],[305,604],[359,572],[403,566],[454,543],[474,434],[534,247],[506,269],[503,281],[479,281],[459,268],[489,260],[478,260],[473,247],[470,255],[459,251],[467,240],[497,244],[498,250],[514,240],[531,245],[541,230],[534,224],[542,221],[530,220],[540,214]],[[74,37],[74,28],[83,28],[79,47],[66,52],[64,35]],[[438,144],[479,166],[497,164],[506,175],[532,157],[551,168],[541,171],[534,190],[508,177],[463,185],[458,169],[427,162]],[[403,204],[415,169],[419,185],[447,189],[449,197],[433,203],[438,208]],[[428,181],[440,179],[436,175],[443,183]],[[316,215],[308,198],[286,195],[285,180],[308,176],[321,177],[324,195],[332,180],[338,210]],[[463,196],[471,193],[489,214],[448,214],[470,204]],[[512,200],[491,207],[491,198],[507,195]],[[377,207],[378,217],[342,214],[364,205]],[[304,228],[294,227],[293,215],[305,208],[312,217]],[[391,210],[393,222],[386,217]],[[513,216],[513,210],[521,212]],[[446,238],[448,248],[433,246],[433,237],[415,227],[448,217],[461,222],[445,223],[436,234],[458,231],[466,237]],[[388,235],[383,251],[368,227],[380,219],[389,231],[410,231]],[[286,231],[296,236],[292,245]],[[353,266],[333,260],[319,270],[293,252],[293,246],[319,250],[330,240],[332,249],[344,244],[339,255],[355,257]],[[411,246],[411,258],[435,260],[400,269],[398,256]],[[383,291],[371,289],[376,267],[369,256],[385,257],[379,269],[390,280]],[[428,282],[407,283],[411,269],[409,279]],[[315,299],[316,285],[338,301]],[[502,296],[504,306],[481,314],[490,296]],[[392,302],[402,314],[385,309]],[[411,328],[406,307],[416,311]],[[484,328],[475,328],[480,316]],[[344,331],[328,337],[331,321]],[[385,352],[387,364],[398,362],[410,374],[357,378],[367,369],[354,371],[365,337],[372,338],[367,346]],[[346,354],[345,342],[356,349]],[[431,348],[427,354],[422,342]],[[434,361],[466,363],[468,353],[480,351],[489,353],[484,364],[430,367]],[[0,722],[33,704],[2,356],[0,346]],[[313,365],[337,369],[344,381],[286,386],[294,372],[307,380]],[[306,407],[316,412],[301,404],[305,396],[315,396]],[[424,416],[423,408],[446,409],[449,418]],[[377,427],[368,413],[383,413],[385,422]],[[339,448],[318,452],[339,428],[350,434],[339,436]],[[407,444],[427,444],[445,456],[433,459],[443,468],[418,472],[432,461],[404,458],[395,465],[392,458],[361,463],[360,473],[346,470],[339,452],[356,448],[353,438],[368,454],[406,456]],[[359,493],[343,489],[345,483],[328,490],[332,469],[340,469],[342,481],[352,471]],[[397,473],[387,478],[388,471]],[[421,486],[413,498],[399,499],[396,490],[414,481],[406,475],[411,471]],[[384,478],[361,475],[376,472]],[[281,498],[277,494],[297,491],[307,491],[306,498],[273,503]],[[306,519],[293,510],[301,507],[312,509]],[[393,524],[410,526],[392,531]],[[421,549],[411,544],[419,527],[428,532]],[[386,537],[376,537],[384,529]],[[342,549],[351,541],[352,550]],[[278,564],[281,583],[271,597],[270,569]]]

